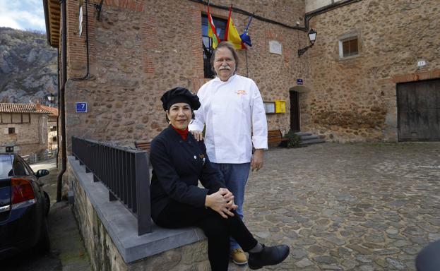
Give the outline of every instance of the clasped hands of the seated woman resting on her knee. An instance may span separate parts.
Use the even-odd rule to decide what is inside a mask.
[[[231,210],[237,209],[234,204],[234,195],[227,188],[220,188],[217,192],[206,195],[205,206],[218,212],[222,217],[234,216]]]

